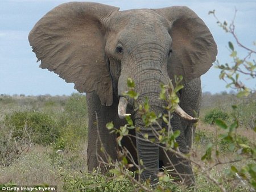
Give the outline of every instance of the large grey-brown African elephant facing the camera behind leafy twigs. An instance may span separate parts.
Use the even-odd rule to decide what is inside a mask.
[[[211,32],[195,12],[185,6],[119,11],[100,3],[69,2],[44,15],[28,40],[41,61],[40,68],[59,74],[86,93],[89,171],[102,166],[98,157],[106,157],[101,147],[112,160],[118,159],[117,135],[110,133],[106,123],[113,122],[118,128],[130,115],[140,132],[130,130],[135,137],[123,139],[122,144],[143,168],[142,180],[150,178],[152,185],[158,182],[159,169],[165,166],[174,168],[174,176],[185,185],[195,183],[191,161],[171,152],[163,155],[159,145],[141,139],[145,134],[156,139],[152,129],[159,131],[159,126],[146,127],[134,99],[125,94],[127,78],[131,78],[139,94],[137,105],[147,98],[151,111],[164,114],[160,84],[183,76],[184,88],[177,93],[180,103],[171,125],[180,131],[180,152],[189,152],[195,114],[200,111],[200,76],[217,55]],[[158,123],[164,126],[163,120]]]

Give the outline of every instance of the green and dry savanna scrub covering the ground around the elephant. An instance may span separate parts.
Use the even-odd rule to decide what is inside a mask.
[[[233,109],[231,106],[237,105]],[[229,143],[217,136],[215,119],[232,122],[238,116],[241,127],[238,137],[243,143],[255,144],[256,94],[238,99],[235,94],[203,94],[201,117],[193,142],[193,160],[201,161],[209,143],[218,147],[220,160],[233,161],[234,153]],[[0,183],[5,185],[57,185],[60,191],[135,191],[138,184],[126,177],[113,178],[99,173],[87,173],[86,140],[87,114],[85,95],[27,96],[0,95]],[[215,157],[214,157],[215,158]],[[204,162],[212,166],[213,162]],[[238,161],[237,166],[243,162]],[[221,164],[210,170],[216,178],[226,176],[230,165]],[[198,191],[218,191],[218,186],[208,180],[200,169],[194,167]],[[130,173],[133,177],[133,173]],[[159,189],[183,191],[179,186],[160,181]],[[148,184],[145,184],[148,185]],[[237,191],[250,190],[242,182],[225,183]]]

